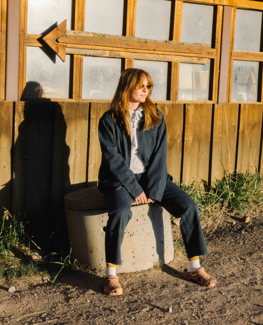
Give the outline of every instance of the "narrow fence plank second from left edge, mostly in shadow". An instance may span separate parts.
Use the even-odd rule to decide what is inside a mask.
[[[14,116],[14,147],[13,155],[13,184],[12,184],[12,213],[18,215],[24,211],[24,173],[25,173],[25,120],[24,102],[15,103]]]

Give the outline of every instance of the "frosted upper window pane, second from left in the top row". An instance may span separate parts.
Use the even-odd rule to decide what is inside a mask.
[[[84,31],[122,35],[123,0],[88,0]]]

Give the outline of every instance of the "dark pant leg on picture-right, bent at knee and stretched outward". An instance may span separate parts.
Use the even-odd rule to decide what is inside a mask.
[[[161,202],[156,203],[173,217],[181,217],[180,228],[188,258],[208,253],[198,208],[185,191],[169,180]]]

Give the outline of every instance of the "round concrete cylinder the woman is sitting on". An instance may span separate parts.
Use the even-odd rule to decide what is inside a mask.
[[[65,196],[65,211],[72,256],[79,263],[104,268],[105,231],[108,204],[97,187],[88,187]],[[170,215],[157,204],[132,205],[121,246],[122,265],[117,272],[147,270],[156,262],[174,258]]]

